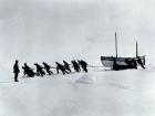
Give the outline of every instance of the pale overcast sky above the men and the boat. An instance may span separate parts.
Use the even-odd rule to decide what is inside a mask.
[[[0,0],[1,62],[155,56],[154,0]]]

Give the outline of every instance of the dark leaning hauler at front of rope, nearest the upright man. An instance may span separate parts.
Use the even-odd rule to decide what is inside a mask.
[[[29,77],[33,77],[37,75],[37,73],[33,72],[31,67],[28,66],[27,63],[24,63],[24,66],[22,66],[24,75],[28,75]]]

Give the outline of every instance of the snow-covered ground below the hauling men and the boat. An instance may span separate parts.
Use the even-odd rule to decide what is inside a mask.
[[[3,74],[3,73],[2,73]],[[0,116],[154,116],[155,68],[0,78]]]

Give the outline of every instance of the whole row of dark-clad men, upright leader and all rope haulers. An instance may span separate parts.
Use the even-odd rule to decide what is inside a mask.
[[[78,60],[78,62],[76,62],[75,60],[73,60],[73,61],[71,61],[71,63],[72,63],[72,66],[70,66],[71,64],[69,64],[64,60],[63,60],[63,64],[55,62],[56,73],[59,74],[61,71],[63,74],[70,74],[72,72],[70,67],[73,67],[75,72],[80,72],[81,67],[82,67],[82,70],[85,73],[87,73],[87,63],[85,61]],[[37,72],[34,72],[32,67],[30,67],[27,63],[24,63],[24,65],[22,66],[23,74],[24,74],[23,76],[29,76],[29,77],[44,76],[45,72],[49,75],[53,74],[53,72],[50,71],[52,67],[48,63],[43,62],[42,64],[43,64],[43,66],[38,63],[34,63],[33,65],[35,65],[35,67],[37,67]],[[44,72],[44,70],[45,70],[45,72]],[[13,73],[14,73],[14,82],[18,82],[18,75],[20,73],[18,60],[16,60],[16,63],[13,65]]]

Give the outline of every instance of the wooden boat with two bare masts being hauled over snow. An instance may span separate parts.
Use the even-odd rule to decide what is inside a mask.
[[[117,56],[117,38],[115,32],[115,56],[101,56],[101,62],[103,66],[111,67],[113,70],[126,70],[126,68],[137,68],[137,66],[144,67],[145,55],[138,56],[138,46],[136,41],[136,56],[135,57],[118,57]],[[136,63],[136,64],[135,64]],[[135,64],[135,65],[134,65]],[[116,65],[116,68],[115,68]],[[145,67],[144,67],[145,68]]]

